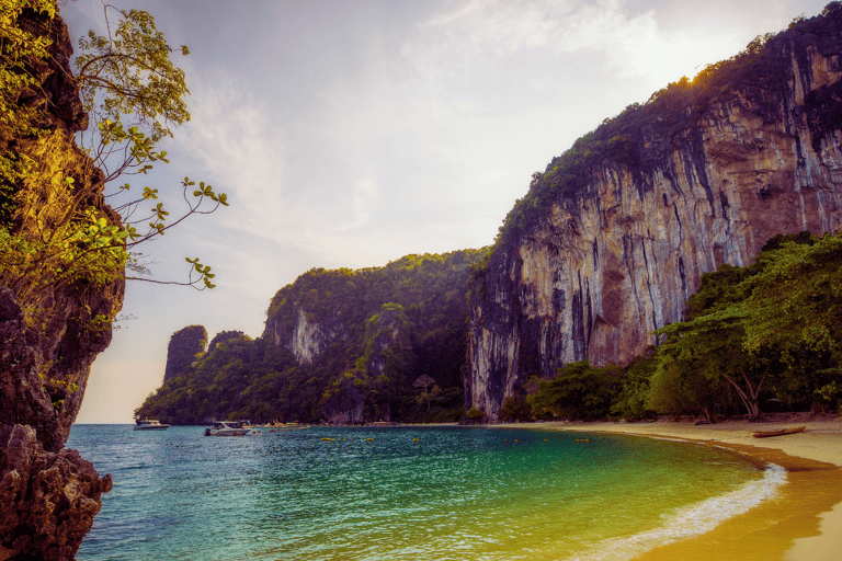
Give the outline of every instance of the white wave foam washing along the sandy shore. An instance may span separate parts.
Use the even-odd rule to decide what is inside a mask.
[[[664,525],[626,538],[612,538],[592,550],[570,557],[568,561],[628,561],[658,546],[701,536],[719,524],[754,508],[774,496],[786,483],[786,470],[775,463],[766,466],[763,478],[741,488],[714,496],[668,515]]]

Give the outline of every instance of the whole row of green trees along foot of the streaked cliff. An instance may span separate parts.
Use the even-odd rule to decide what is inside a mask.
[[[507,398],[502,420],[839,411],[842,232],[775,236],[748,266],[702,275],[685,319],[626,367],[568,363]]]

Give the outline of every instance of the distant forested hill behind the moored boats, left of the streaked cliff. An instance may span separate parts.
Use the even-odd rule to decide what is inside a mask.
[[[137,414],[179,424],[457,421],[465,401],[465,295],[470,266],[485,254],[463,250],[407,255],[384,267],[311,270],[272,298],[261,337],[215,336]],[[201,335],[204,328],[173,335],[168,365],[187,331]],[[197,348],[187,346],[186,354],[179,351],[183,356]]]

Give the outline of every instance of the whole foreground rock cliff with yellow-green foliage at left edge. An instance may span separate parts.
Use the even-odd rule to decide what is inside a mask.
[[[107,249],[89,267],[83,232],[116,229],[120,216],[73,140],[88,116],[55,2],[1,8],[0,559],[67,560],[111,489],[62,447],[124,289],[123,262]],[[84,224],[65,218],[79,193]]]

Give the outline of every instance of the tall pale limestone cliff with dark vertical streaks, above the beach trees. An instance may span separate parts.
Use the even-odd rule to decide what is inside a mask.
[[[531,376],[626,364],[703,273],[842,228],[839,20],[671,84],[535,175],[473,287],[467,405],[493,416]]]

